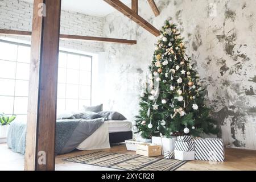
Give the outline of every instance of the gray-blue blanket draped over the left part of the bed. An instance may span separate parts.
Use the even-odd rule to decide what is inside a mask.
[[[104,123],[105,118],[97,119],[58,119],[56,122],[55,154],[65,154],[94,133]],[[8,147],[12,151],[25,154],[26,122],[14,121],[9,127]]]

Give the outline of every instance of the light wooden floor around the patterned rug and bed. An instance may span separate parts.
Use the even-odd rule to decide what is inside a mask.
[[[99,151],[99,150],[94,150]],[[97,167],[97,166],[90,166],[86,164],[78,164],[78,163],[71,163],[65,162],[62,159],[88,154],[94,151],[74,151],[70,154],[59,155],[56,157],[56,170],[76,170],[76,171],[93,171],[93,170],[107,170],[112,171],[114,169],[111,168],[104,168],[104,167]],[[135,154],[133,151],[127,151],[125,145],[114,146],[110,149],[105,149],[101,151],[108,151],[108,152],[119,152],[125,154]],[[256,151],[250,150],[240,150],[240,149],[232,149],[226,148],[225,150],[225,162],[214,163],[214,162],[207,162],[201,160],[193,160],[189,161],[177,171],[205,171],[205,170],[255,170],[256,171]],[[6,144],[0,144],[0,171],[2,170],[23,170],[24,166],[24,157],[21,154],[16,154],[12,152],[9,148],[7,148]]]

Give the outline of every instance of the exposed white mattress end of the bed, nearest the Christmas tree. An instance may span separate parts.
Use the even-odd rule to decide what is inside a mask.
[[[108,123],[109,133],[131,131],[133,127],[133,125],[131,125],[131,122],[126,120],[125,121],[109,120],[105,122]]]

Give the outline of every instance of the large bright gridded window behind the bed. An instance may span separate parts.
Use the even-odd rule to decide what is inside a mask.
[[[0,113],[27,114],[30,46],[0,40]],[[91,103],[92,57],[60,51],[58,110]]]

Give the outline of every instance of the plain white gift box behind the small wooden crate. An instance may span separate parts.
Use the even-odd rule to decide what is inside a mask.
[[[162,155],[164,155],[164,152],[174,151],[176,140],[177,137],[152,137],[152,143],[159,144],[160,146],[162,146]]]

